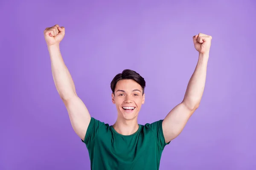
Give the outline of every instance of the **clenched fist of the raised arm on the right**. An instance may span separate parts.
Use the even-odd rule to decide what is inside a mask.
[[[201,53],[206,54],[209,53],[211,47],[212,36],[201,34],[193,36],[193,42],[195,45],[195,49]]]

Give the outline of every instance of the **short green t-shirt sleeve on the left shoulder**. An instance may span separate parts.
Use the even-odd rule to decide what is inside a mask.
[[[84,142],[86,145],[90,144],[102,126],[105,126],[104,122],[100,122],[99,120],[91,117],[84,140],[82,140],[82,142]]]

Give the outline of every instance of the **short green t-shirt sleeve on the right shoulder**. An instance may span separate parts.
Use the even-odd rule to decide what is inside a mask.
[[[160,145],[160,147],[163,149],[170,142],[168,142],[168,143],[165,142],[165,139],[164,139],[164,136],[163,136],[162,123],[163,123],[163,120],[159,120],[159,121],[156,121],[156,122],[153,122],[153,123],[149,124],[149,127],[151,128],[153,133],[156,135],[157,142]]]

